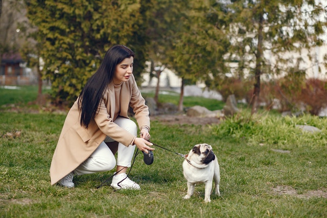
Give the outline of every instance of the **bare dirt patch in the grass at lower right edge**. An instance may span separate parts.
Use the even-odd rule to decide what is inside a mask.
[[[312,198],[312,197],[320,197],[320,198],[327,198],[327,190],[313,190],[308,191],[306,193],[298,194],[297,191],[292,188],[291,186],[277,186],[276,188],[272,189],[274,193],[278,195],[292,195],[297,198]]]

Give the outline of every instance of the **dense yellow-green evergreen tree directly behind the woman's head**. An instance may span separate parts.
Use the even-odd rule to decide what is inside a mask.
[[[36,40],[42,43],[44,77],[52,82],[57,104],[76,99],[112,45],[134,50],[134,74],[141,74],[147,49],[147,17],[142,14],[150,1],[26,0],[26,4],[28,18],[38,28]]]

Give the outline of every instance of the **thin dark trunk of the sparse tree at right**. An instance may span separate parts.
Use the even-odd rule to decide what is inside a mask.
[[[255,70],[254,70],[254,90],[253,90],[253,96],[252,96],[252,110],[251,114],[254,114],[258,111],[259,107],[259,95],[260,95],[260,76],[262,72],[262,55],[263,55],[263,15],[260,15],[259,19],[259,28],[258,28],[258,48],[256,50],[256,64],[255,64]]]

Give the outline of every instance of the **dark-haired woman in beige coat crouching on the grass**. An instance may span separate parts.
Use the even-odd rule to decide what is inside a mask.
[[[111,47],[87,81],[64,122],[50,167],[51,184],[74,187],[74,175],[109,171],[116,167],[111,186],[139,189],[127,178],[136,145],[148,153],[148,106],[139,92],[133,72],[134,53],[126,46]],[[129,119],[132,107],[137,126]],[[114,154],[118,152],[117,161]]]

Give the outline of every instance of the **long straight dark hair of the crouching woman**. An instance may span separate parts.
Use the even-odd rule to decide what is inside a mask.
[[[81,126],[88,128],[90,122],[94,120],[102,95],[112,81],[117,64],[129,57],[134,57],[134,52],[122,45],[115,45],[106,52],[100,67],[88,79],[79,95],[78,108],[81,115]]]

